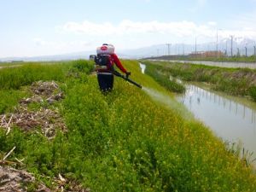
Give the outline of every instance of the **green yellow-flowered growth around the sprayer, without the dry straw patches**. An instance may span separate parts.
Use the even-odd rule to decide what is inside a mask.
[[[138,83],[162,90],[140,73],[137,61],[124,61],[124,65]],[[45,66],[35,71],[29,67],[37,77]],[[55,79],[50,75],[51,67],[55,68],[45,69],[49,70],[47,80]],[[58,67],[62,75],[55,81],[65,99],[55,107],[68,131],[59,131],[48,140],[37,131],[23,132],[19,127],[8,136],[0,130],[0,156],[16,146],[10,160],[26,158],[25,168],[39,181],[54,188],[54,177],[61,173],[97,192],[255,191],[251,167],[201,123],[184,120],[175,110],[158,105],[143,90],[122,79],[116,78],[113,92],[102,95],[87,61]],[[17,87],[9,88],[20,91]]]

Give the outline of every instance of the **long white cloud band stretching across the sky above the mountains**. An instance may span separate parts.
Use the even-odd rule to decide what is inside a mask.
[[[82,23],[67,22],[64,26],[59,26],[58,30],[64,32],[74,32],[76,34],[85,35],[128,35],[128,34],[143,34],[143,33],[171,33],[177,36],[186,36],[197,33],[201,30],[209,33],[210,28],[206,26],[196,26],[194,22],[180,21],[180,22],[134,22],[131,20],[123,20],[118,25],[114,26],[110,22],[93,23],[85,20]]]

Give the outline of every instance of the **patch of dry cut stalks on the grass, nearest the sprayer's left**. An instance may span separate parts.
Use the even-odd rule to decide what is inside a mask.
[[[64,98],[58,84],[39,81],[33,83],[30,89],[32,97],[21,99],[14,113],[0,115],[0,127],[6,129],[7,134],[14,126],[18,126],[23,131],[40,129],[49,139],[55,137],[57,129],[67,131],[64,120],[56,108],[39,108],[37,111],[28,109],[28,105],[32,102],[48,102],[51,105]]]

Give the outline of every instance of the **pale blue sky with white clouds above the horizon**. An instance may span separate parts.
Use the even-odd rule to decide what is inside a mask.
[[[0,57],[219,38],[256,41],[256,0],[0,0]]]

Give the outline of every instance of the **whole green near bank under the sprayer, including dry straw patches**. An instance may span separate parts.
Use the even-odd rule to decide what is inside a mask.
[[[255,191],[236,148],[185,117],[137,61],[123,62],[143,90],[116,78],[102,95],[90,61],[0,70],[0,166],[32,173],[21,191]],[[13,120],[22,113],[26,129]]]

